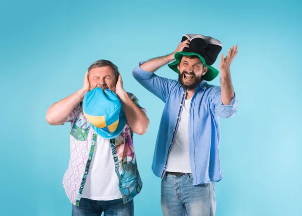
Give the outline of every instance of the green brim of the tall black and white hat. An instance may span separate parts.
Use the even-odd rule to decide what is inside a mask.
[[[214,67],[212,67],[210,65],[207,65],[205,63],[204,58],[201,55],[199,55],[198,53],[195,53],[195,52],[176,52],[175,53],[174,57],[175,57],[176,60],[173,61],[172,63],[168,64],[168,66],[172,70],[174,70],[177,74],[179,74],[179,70],[177,68],[177,65],[180,62],[183,55],[189,55],[189,56],[197,55],[200,58],[200,60],[202,61],[203,65],[208,67],[208,70],[206,71],[205,75],[202,76],[203,80],[212,81],[218,76],[219,71],[217,69],[215,69]]]

